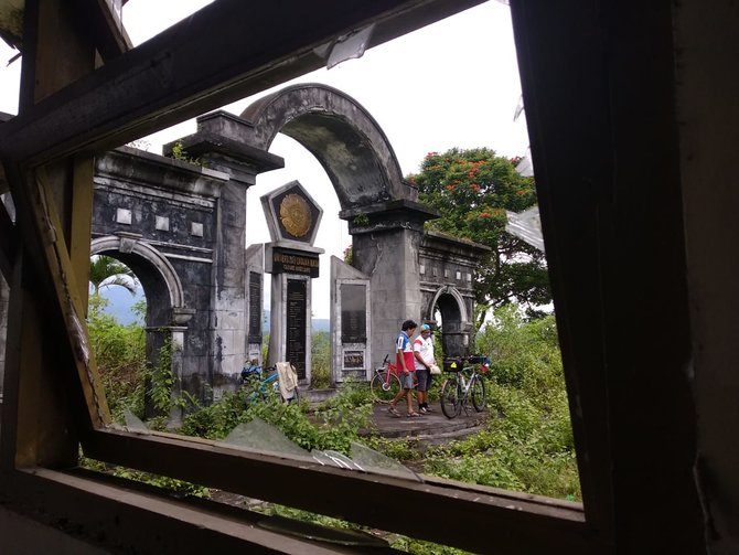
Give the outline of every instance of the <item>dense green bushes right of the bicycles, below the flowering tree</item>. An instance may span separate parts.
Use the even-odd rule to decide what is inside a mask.
[[[525,321],[515,306],[478,337],[491,353],[486,429],[430,448],[425,472],[539,495],[579,499],[575,441],[554,317]]]

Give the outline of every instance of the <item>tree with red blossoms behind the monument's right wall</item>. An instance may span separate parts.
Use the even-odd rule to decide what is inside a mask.
[[[407,178],[420,200],[441,212],[427,225],[492,250],[475,277],[478,327],[489,310],[508,302],[529,307],[551,301],[544,254],[506,233],[505,211],[521,212],[536,204],[533,178],[521,175],[510,160],[488,148],[429,152],[420,172]]]

